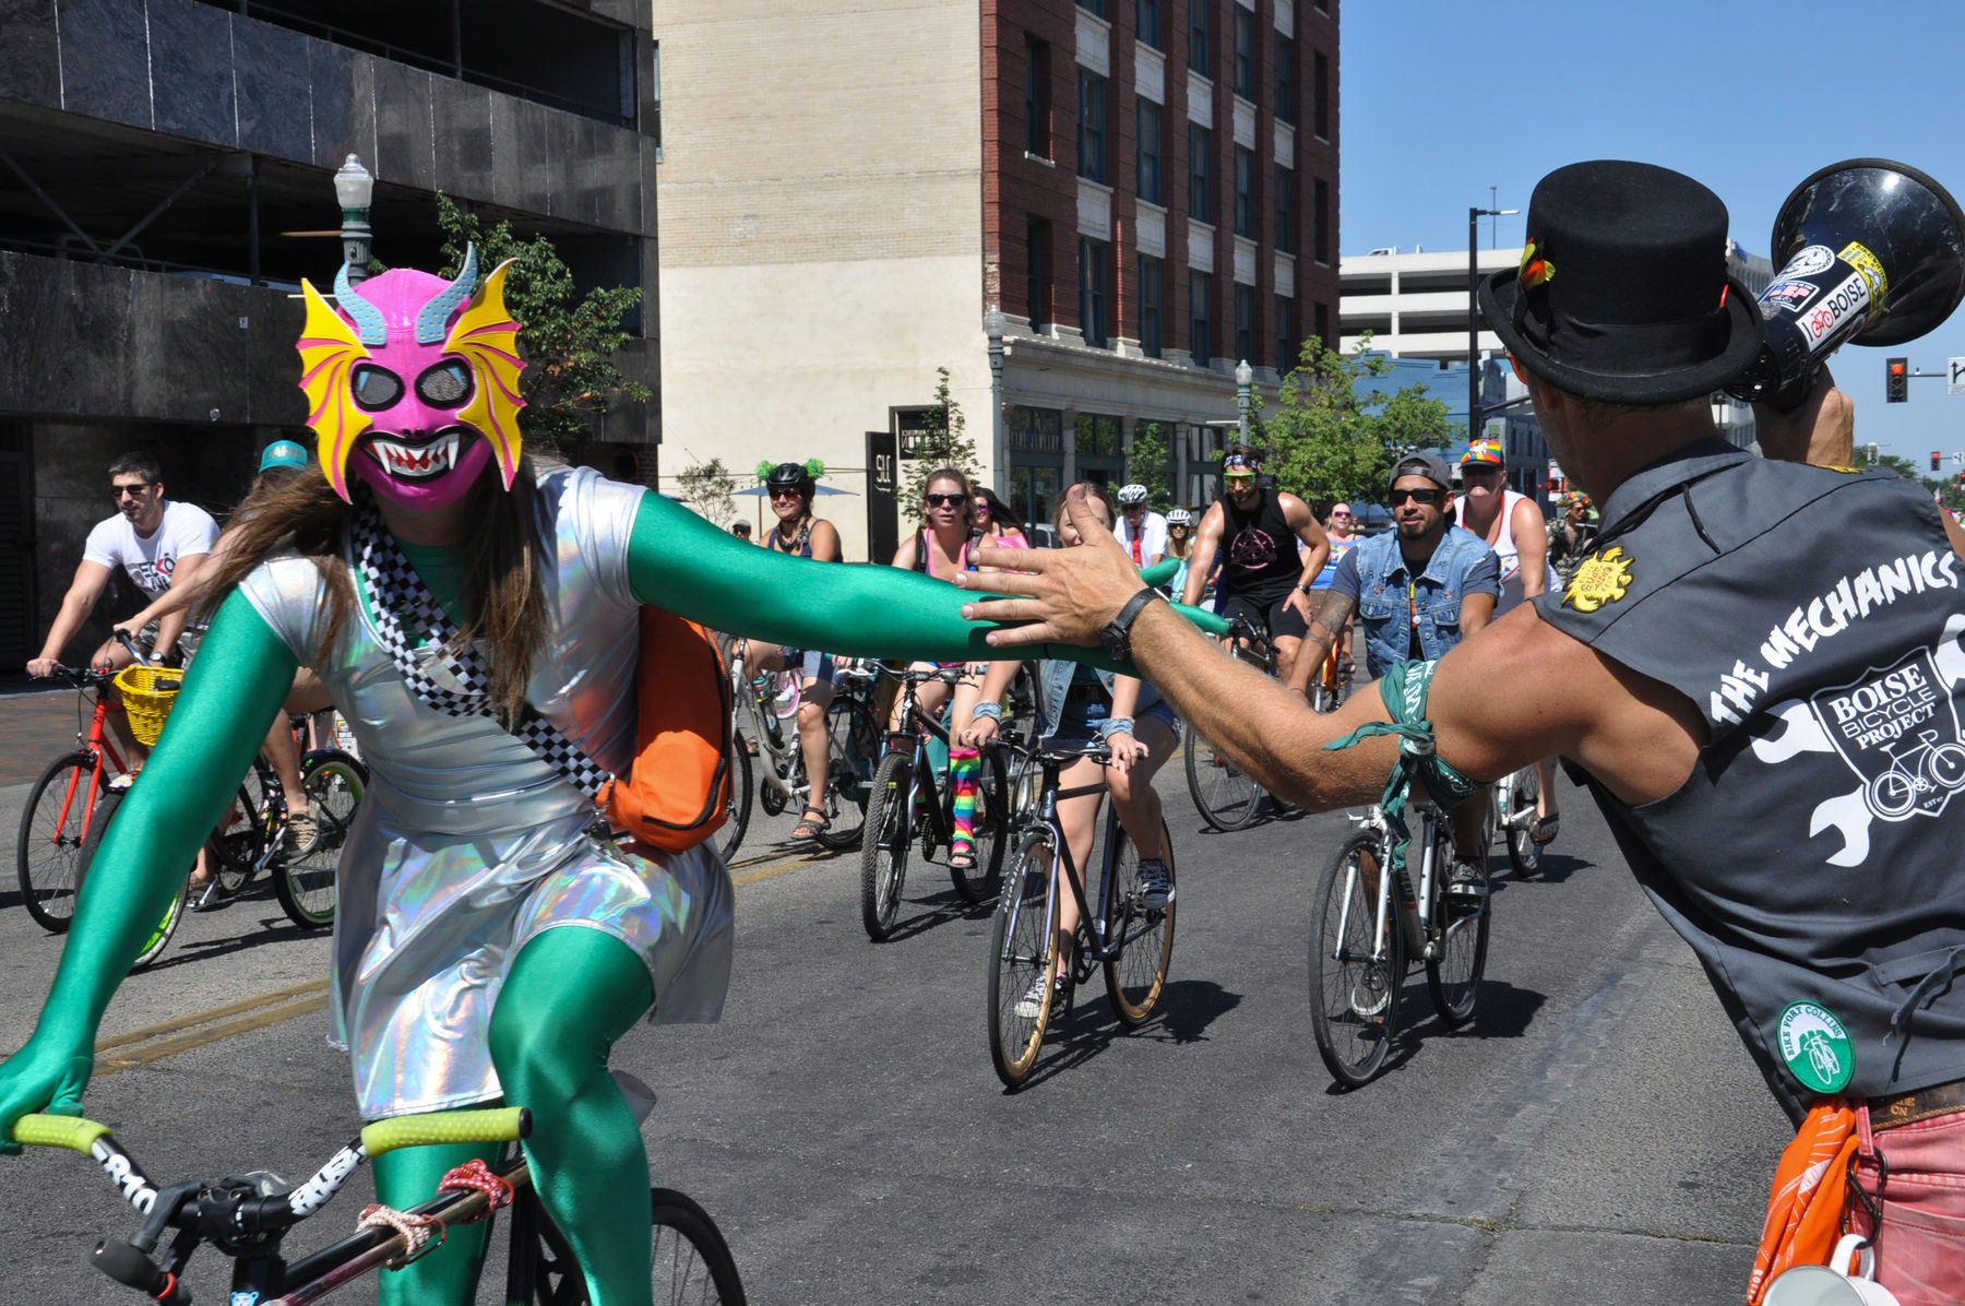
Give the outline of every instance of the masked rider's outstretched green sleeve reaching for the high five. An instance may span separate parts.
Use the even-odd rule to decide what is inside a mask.
[[[658,494],[646,496],[635,515],[629,584],[641,602],[711,629],[845,657],[1065,657],[1128,671],[1073,645],[994,649],[984,643],[988,623],[963,620],[963,604],[986,594],[896,566],[815,563],[758,549]],[[1193,608],[1181,612],[1212,620]]]

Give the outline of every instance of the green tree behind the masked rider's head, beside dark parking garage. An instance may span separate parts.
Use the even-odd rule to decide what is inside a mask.
[[[519,433],[534,448],[578,445],[611,403],[648,399],[648,387],[623,378],[611,358],[633,338],[621,321],[641,303],[639,289],[603,285],[582,295],[550,240],[521,240],[505,220],[485,226],[442,193],[436,197],[436,222],[444,230],[446,277],[464,267],[466,244],[477,246],[479,275],[517,260],[505,277],[505,307],[523,326],[519,350],[527,368],[519,376],[519,393],[527,407],[519,413]]]

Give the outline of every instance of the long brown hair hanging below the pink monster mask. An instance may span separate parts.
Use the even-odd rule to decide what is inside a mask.
[[[509,494],[495,484],[495,476],[497,468],[487,464],[477,484],[466,492],[472,525],[462,545],[464,623],[452,651],[483,637],[491,665],[491,702],[499,722],[511,728],[525,710],[533,659],[546,643],[550,618],[540,576],[550,555],[538,539],[533,460],[519,460]],[[369,494],[358,478],[350,482],[356,496]],[[356,604],[348,564],[342,561],[342,535],[354,515],[356,509],[320,476],[318,462],[309,464],[309,474],[285,484],[261,482],[234,513],[236,535],[206,590],[208,608],[216,608],[275,551],[291,547],[310,559],[326,582],[328,623],[312,653],[316,667],[326,665]]]

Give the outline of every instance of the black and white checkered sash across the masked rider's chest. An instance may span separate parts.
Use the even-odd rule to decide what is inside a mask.
[[[367,584],[375,608],[375,631],[381,647],[387,649],[395,669],[403,673],[409,688],[434,712],[444,716],[489,716],[495,720],[491,704],[491,673],[485,669],[477,649],[464,645],[452,653],[458,625],[444,612],[444,606],[430,594],[417,568],[409,564],[403,549],[389,535],[381,513],[373,505],[364,507],[354,521],[354,555],[362,580]],[[417,653],[422,641],[422,657]],[[426,659],[426,661],[424,661]],[[424,669],[442,665],[464,692],[444,688]],[[599,791],[613,775],[568,740],[558,726],[548,722],[533,704],[525,704],[517,728],[511,732],[521,743],[533,749],[540,761],[558,771],[566,783],[588,797]]]

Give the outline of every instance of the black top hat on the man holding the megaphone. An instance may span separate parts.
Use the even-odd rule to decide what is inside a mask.
[[[1761,350],[1753,291],[1725,275],[1727,214],[1692,177],[1598,159],[1543,177],[1515,271],[1480,285],[1507,350],[1543,380],[1605,403],[1678,403]]]

